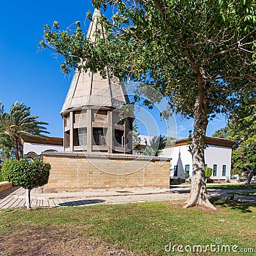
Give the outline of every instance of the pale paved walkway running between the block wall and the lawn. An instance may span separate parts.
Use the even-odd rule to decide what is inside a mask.
[[[131,202],[150,202],[163,200],[186,199],[189,187],[172,186],[170,189],[129,189],[129,191],[84,191],[72,193],[42,193],[42,189],[31,191],[31,207],[77,206],[92,204],[126,204]],[[208,195],[226,198],[228,193],[256,192],[256,190],[221,190],[208,189]],[[256,204],[256,196],[235,195],[235,200]],[[12,187],[0,192],[0,209],[23,207],[26,202],[26,191]]]

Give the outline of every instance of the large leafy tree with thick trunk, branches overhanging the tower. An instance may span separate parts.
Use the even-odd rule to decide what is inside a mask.
[[[72,68],[108,71],[143,81],[163,93],[170,108],[195,118],[191,193],[185,207],[214,206],[205,186],[205,132],[216,113],[230,113],[255,95],[255,3],[253,0],[93,0],[113,8],[103,16],[104,37],[86,39],[76,22],[60,31],[45,26],[43,47],[64,56]],[[92,19],[92,15],[88,13]],[[100,33],[102,31],[96,31]],[[96,36],[97,37],[97,36]]]

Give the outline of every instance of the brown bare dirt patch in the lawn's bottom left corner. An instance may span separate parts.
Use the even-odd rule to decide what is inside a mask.
[[[97,238],[68,234],[60,227],[33,227],[0,236],[1,256],[133,256]]]

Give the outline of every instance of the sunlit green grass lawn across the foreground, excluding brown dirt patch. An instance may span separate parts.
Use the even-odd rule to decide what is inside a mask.
[[[58,228],[58,233],[67,237],[68,234],[96,237],[134,255],[187,255],[168,253],[163,249],[170,241],[183,246],[205,246],[215,244],[217,238],[222,239],[222,244],[237,244],[239,248],[253,248],[256,252],[255,205],[225,202],[217,198],[212,198],[212,201],[218,211],[183,209],[179,201],[41,208],[31,211],[8,209],[0,211],[0,240],[13,232],[31,228],[38,232],[44,228]]]

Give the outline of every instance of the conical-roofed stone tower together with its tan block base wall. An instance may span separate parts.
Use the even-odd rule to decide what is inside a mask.
[[[100,15],[99,10],[93,13],[87,34],[92,42],[96,29],[104,36]],[[51,164],[46,193],[170,187],[170,159],[131,154],[134,115],[120,120],[120,108],[129,100],[122,84],[106,71],[106,79],[90,70],[73,77],[61,110],[65,152],[42,153]]]

